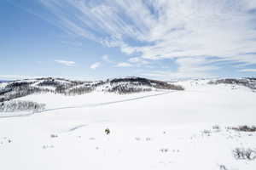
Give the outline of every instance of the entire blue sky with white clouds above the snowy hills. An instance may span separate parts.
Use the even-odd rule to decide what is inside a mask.
[[[256,1],[2,0],[0,79],[256,76]]]

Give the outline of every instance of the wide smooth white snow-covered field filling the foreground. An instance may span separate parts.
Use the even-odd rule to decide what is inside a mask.
[[[256,132],[229,127],[256,125],[256,93],[207,81],[176,83],[185,90],[20,98],[46,110],[0,118],[0,167],[255,170]],[[236,159],[237,148],[253,150],[252,159]]]

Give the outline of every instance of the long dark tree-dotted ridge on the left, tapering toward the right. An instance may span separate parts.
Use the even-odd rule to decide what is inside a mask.
[[[8,82],[0,87],[0,102],[30,94],[81,95],[92,92],[135,94],[160,90],[184,90],[180,85],[143,77],[113,78],[106,81],[83,82],[63,78],[37,78]]]

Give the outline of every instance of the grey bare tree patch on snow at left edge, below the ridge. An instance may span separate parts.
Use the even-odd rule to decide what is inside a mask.
[[[0,103],[0,112],[43,111],[44,108],[44,104],[32,101],[12,100]]]

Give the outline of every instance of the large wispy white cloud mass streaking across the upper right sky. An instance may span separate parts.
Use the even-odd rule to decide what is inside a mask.
[[[209,56],[230,60],[230,65],[256,64],[256,3],[252,0],[41,3],[68,33],[137,54],[137,59],[129,59],[131,63],[174,59],[177,75],[217,70]]]

